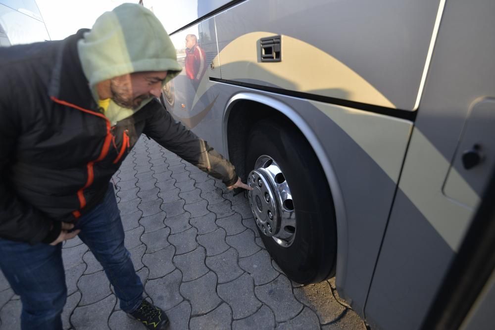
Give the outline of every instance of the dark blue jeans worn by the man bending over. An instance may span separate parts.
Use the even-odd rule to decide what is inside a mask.
[[[74,229],[103,266],[127,313],[137,309],[143,283],[124,246],[124,229],[117,201],[109,185],[103,201],[79,218]],[[0,268],[14,292],[21,297],[22,329],[62,329],[60,315],[67,298],[62,263],[62,243],[30,245],[0,238]]]

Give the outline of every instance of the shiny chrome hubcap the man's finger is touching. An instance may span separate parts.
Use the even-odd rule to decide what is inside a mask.
[[[277,163],[270,156],[260,156],[249,173],[247,193],[256,225],[263,235],[288,247],[296,235],[296,213],[291,190]]]

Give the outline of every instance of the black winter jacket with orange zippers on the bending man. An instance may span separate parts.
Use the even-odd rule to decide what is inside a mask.
[[[114,127],[99,112],[77,41],[0,47],[0,237],[49,243],[97,205],[144,133],[227,186],[230,162],[157,100]]]

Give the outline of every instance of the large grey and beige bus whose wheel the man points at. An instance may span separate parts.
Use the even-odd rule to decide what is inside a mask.
[[[184,67],[163,103],[253,188],[285,274],[421,328],[494,169],[495,1],[144,5]]]

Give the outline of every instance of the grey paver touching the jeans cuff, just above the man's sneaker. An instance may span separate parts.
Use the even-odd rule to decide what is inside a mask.
[[[182,274],[176,269],[172,273],[156,280],[149,280],[145,289],[153,300],[153,303],[163,310],[171,309],[179,305],[184,298],[180,294]]]

